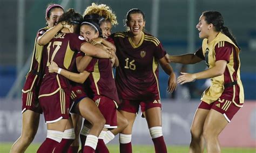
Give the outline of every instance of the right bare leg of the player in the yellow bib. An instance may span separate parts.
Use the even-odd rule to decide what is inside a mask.
[[[223,129],[227,126],[227,123],[228,122],[223,114],[214,109],[210,110],[210,113],[205,120],[203,133],[208,153],[221,152],[218,137],[221,131],[223,131]]]

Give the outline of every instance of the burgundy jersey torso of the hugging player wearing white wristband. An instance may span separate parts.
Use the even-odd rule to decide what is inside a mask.
[[[91,72],[86,83],[91,87],[93,95],[104,95],[119,103],[109,59],[93,58],[85,71]]]

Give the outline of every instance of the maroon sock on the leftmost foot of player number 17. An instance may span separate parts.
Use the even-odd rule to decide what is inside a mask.
[[[57,145],[57,141],[52,140],[51,138],[46,138],[46,140],[38,148],[37,153],[52,152]]]

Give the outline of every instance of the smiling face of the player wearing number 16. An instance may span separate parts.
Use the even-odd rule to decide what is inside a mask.
[[[133,13],[130,15],[129,20],[127,20],[126,25],[130,28],[132,34],[137,36],[142,33],[145,23],[141,13]]]

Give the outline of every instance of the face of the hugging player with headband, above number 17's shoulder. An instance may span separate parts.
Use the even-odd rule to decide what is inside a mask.
[[[88,24],[80,26],[80,35],[84,37],[86,41],[90,41],[93,38],[99,37],[99,32],[95,32],[95,29]]]

